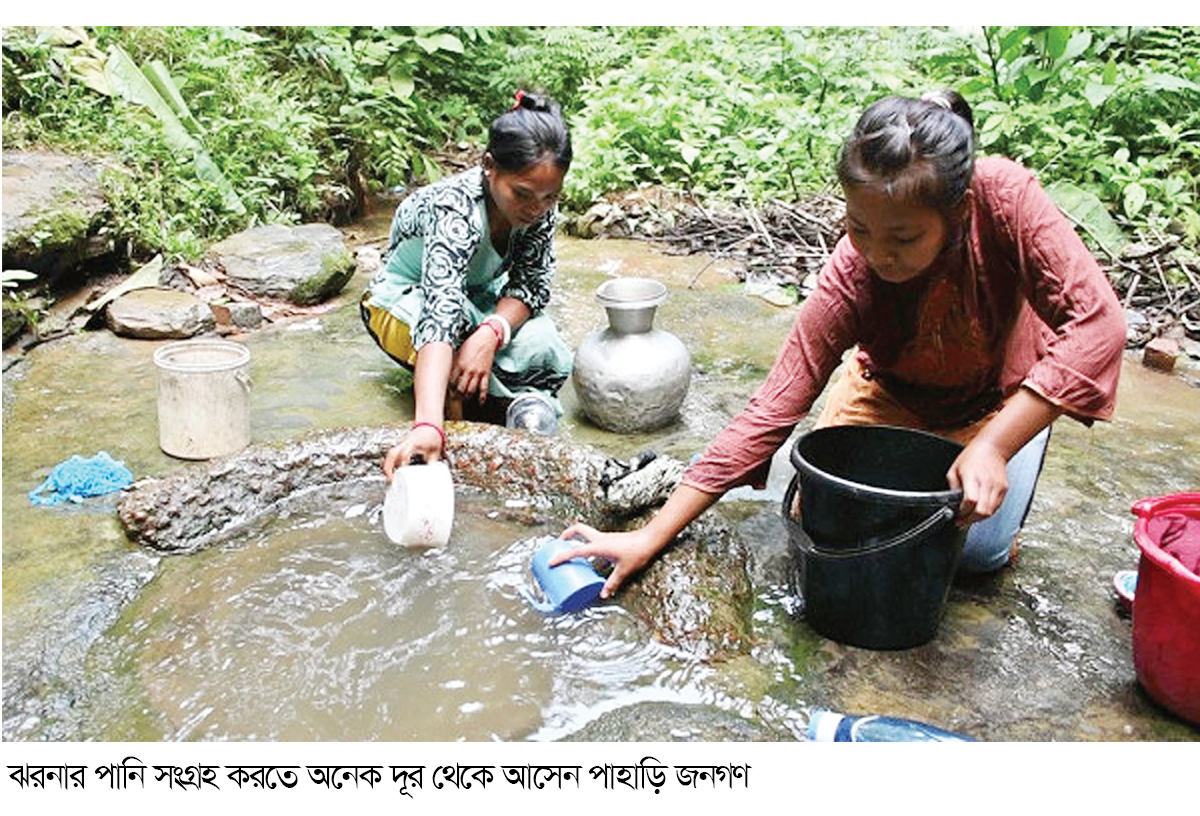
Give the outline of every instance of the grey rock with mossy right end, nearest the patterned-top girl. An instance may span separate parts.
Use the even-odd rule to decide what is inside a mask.
[[[342,233],[322,223],[254,227],[215,244],[210,254],[227,283],[299,305],[332,298],[354,274]]]

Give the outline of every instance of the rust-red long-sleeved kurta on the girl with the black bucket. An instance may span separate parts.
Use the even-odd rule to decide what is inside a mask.
[[[770,457],[845,352],[902,407],[947,436],[1026,386],[1066,414],[1110,419],[1126,325],[1104,272],[1033,174],[976,162],[968,227],[918,280],[887,283],[842,238],[799,308],[767,380],[684,482],[720,493],[766,484]]]

